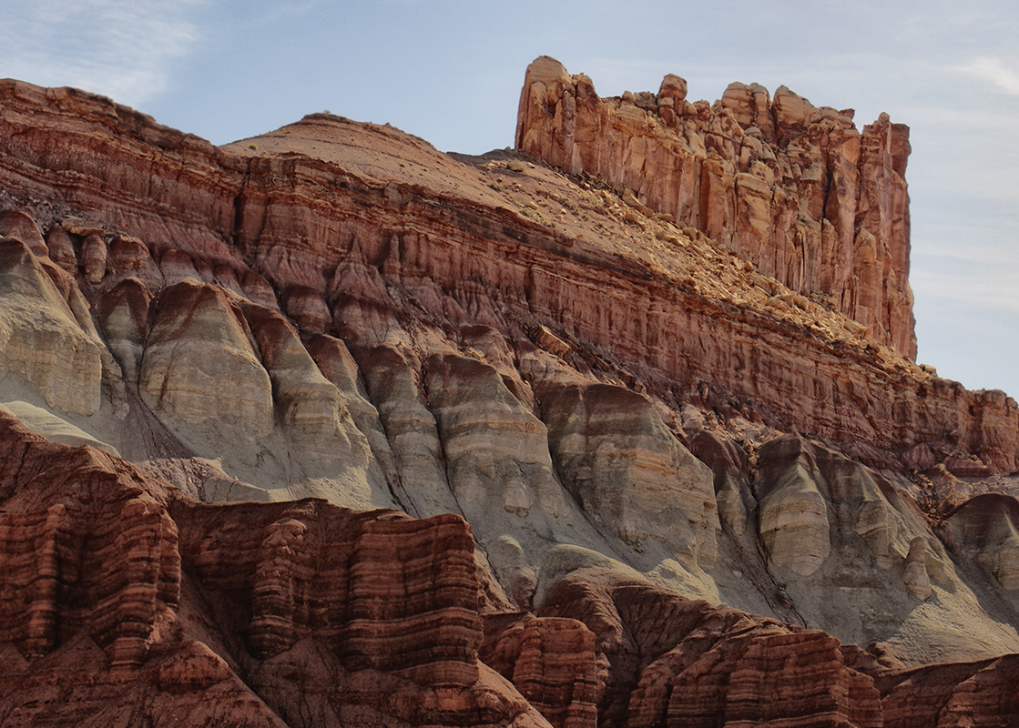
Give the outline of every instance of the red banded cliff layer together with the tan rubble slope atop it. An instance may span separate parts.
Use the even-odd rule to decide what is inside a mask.
[[[167,282],[218,282],[269,307],[278,306],[273,286],[284,298],[297,291],[305,306],[316,291],[352,344],[400,328],[387,312],[404,305],[419,312],[412,317],[457,329],[482,323],[512,337],[551,327],[560,342],[630,362],[662,397],[684,383],[686,398],[704,382],[787,430],[879,448],[951,445],[993,470],[1019,469],[1014,400],[930,376],[884,348],[876,329],[868,334],[777,273],[762,276],[751,261],[719,253],[694,227],[648,218],[604,190],[495,168],[542,202],[532,208],[521,192],[489,186],[501,183],[487,166],[458,164],[384,127],[371,144],[385,148],[386,162],[372,154],[369,164],[357,128],[335,117],[258,137],[255,154],[239,143],[214,148],[72,90],[5,81],[0,97],[3,183],[43,195],[56,185],[66,204],[144,240]],[[36,128],[50,131],[28,131]],[[59,170],[48,156],[54,137],[71,150]],[[102,164],[82,151],[97,146],[106,150]],[[421,162],[400,167],[408,158]],[[556,211],[550,195],[581,204]],[[643,237],[629,222],[635,215]],[[88,235],[75,230],[104,232],[72,223],[83,242]],[[84,260],[78,266],[84,275]],[[906,269],[895,270],[905,281]],[[392,297],[393,284],[406,295]]]

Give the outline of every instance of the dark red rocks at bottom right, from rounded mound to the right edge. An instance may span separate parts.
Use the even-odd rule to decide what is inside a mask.
[[[901,670],[817,630],[575,573],[542,612],[594,632],[600,725],[1013,726],[1019,656]]]

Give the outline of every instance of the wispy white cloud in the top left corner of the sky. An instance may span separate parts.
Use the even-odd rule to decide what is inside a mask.
[[[204,0],[13,0],[0,15],[4,75],[138,105],[166,89],[201,39]],[[12,51],[16,49],[16,51]]]

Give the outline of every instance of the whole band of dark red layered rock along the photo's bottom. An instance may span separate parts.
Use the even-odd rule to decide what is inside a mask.
[[[0,451],[3,726],[947,728],[1019,708],[1015,656],[902,670],[611,569],[483,619],[457,516],[201,504],[2,412]]]

